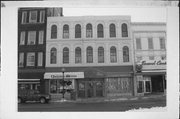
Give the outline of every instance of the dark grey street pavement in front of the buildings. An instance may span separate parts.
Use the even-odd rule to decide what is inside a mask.
[[[19,112],[77,112],[77,111],[127,111],[138,108],[165,107],[166,97],[149,97],[130,100],[111,100],[103,102],[50,102],[40,104],[38,102],[18,104]]]

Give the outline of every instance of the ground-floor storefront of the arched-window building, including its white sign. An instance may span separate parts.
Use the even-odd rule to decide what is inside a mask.
[[[66,71],[68,72],[64,73],[64,80],[71,81],[72,84],[64,87],[64,89],[70,90],[65,93],[64,97],[71,99],[71,92],[75,92],[76,99],[133,95],[132,69],[132,66],[67,67]],[[58,71],[59,69],[48,70]],[[61,99],[63,73],[46,72],[44,79],[45,82],[48,82],[46,88],[51,97]]]

